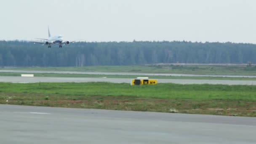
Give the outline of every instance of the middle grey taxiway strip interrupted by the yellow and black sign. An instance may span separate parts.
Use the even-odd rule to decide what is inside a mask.
[[[0,82],[11,83],[37,83],[37,82],[111,82],[131,83],[131,78],[103,78],[103,77],[11,77],[0,76]],[[256,85],[256,80],[179,80],[179,79],[158,79],[158,83],[179,83],[179,84],[224,84],[224,85]]]

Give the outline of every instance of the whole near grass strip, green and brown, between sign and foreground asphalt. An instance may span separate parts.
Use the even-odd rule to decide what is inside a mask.
[[[256,86],[0,83],[0,104],[256,117]]]

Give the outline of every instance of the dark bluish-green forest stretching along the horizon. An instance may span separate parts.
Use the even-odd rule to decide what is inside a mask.
[[[156,63],[256,63],[256,45],[187,41],[78,42],[59,48],[0,41],[0,67],[83,67]]]

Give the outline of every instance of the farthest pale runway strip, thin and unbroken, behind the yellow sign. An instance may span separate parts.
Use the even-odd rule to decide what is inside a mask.
[[[89,75],[186,76],[186,77],[256,77],[251,75],[189,75],[189,74],[157,74],[157,73],[153,74],[153,73],[136,73],[136,72],[69,72],[69,71],[37,71],[37,70],[0,70],[0,72],[89,74]]]

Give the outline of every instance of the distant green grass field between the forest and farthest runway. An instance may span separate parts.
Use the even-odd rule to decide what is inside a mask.
[[[1,68],[3,70],[45,70],[45,71],[78,71],[78,72],[141,72],[141,73],[176,73],[200,75],[256,75],[256,67],[208,66],[208,65],[136,65],[136,66],[88,66],[88,67],[26,67]]]

